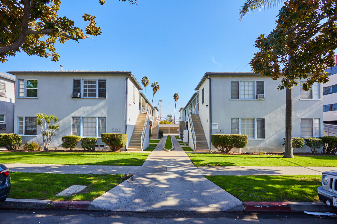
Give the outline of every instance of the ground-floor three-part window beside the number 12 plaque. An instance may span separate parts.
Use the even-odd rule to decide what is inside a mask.
[[[265,139],[265,119],[232,118],[231,134],[247,135],[250,139]]]

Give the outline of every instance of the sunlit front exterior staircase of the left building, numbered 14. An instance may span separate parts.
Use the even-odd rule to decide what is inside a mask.
[[[143,127],[146,119],[146,114],[139,114],[137,117],[136,125],[134,126],[130,142],[127,147],[127,151],[142,151],[141,138]]]

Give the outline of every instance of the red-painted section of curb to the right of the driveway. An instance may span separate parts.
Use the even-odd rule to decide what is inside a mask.
[[[247,212],[291,212],[290,204],[286,201],[244,201]]]

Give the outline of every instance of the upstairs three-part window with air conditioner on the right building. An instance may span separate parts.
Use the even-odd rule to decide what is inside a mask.
[[[264,81],[231,81],[231,99],[257,99],[265,94]]]

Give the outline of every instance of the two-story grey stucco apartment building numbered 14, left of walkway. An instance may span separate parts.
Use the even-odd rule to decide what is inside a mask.
[[[149,146],[149,122],[155,120],[158,109],[140,92],[142,87],[131,72],[8,73],[16,76],[14,133],[22,135],[23,141],[42,143],[34,122],[35,115],[43,113],[60,119],[50,148],[61,147],[61,137],[66,135],[97,137],[97,146],[104,147],[101,133],[126,133],[128,150]]]

